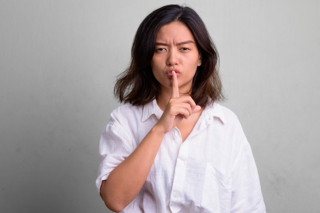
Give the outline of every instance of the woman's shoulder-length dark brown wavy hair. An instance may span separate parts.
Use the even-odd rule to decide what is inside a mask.
[[[115,96],[121,102],[144,105],[158,97],[159,82],[153,75],[150,62],[158,30],[174,21],[182,22],[189,28],[201,54],[201,65],[193,78],[191,97],[203,108],[211,101],[223,99],[218,51],[203,21],[189,7],[167,5],[151,12],[136,31],[130,66],[118,76],[114,89]]]

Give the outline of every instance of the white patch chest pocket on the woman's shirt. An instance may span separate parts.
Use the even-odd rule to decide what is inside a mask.
[[[231,178],[207,164],[202,189],[201,207],[211,213],[230,212]]]

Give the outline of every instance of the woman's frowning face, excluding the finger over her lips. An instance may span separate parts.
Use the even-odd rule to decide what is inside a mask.
[[[189,92],[200,65],[201,56],[196,41],[184,23],[171,22],[159,29],[151,68],[161,84],[161,92],[171,92],[173,70],[177,73],[179,92]]]

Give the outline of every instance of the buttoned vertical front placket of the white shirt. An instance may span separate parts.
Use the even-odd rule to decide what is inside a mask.
[[[170,209],[172,212],[178,212],[181,208],[181,204],[184,203],[184,183],[186,177],[186,163],[188,158],[188,143],[182,143],[181,135],[178,129],[175,129],[173,139],[181,142],[175,165],[170,196]]]

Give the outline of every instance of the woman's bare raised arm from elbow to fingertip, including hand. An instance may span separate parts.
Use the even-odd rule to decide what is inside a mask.
[[[179,97],[175,73],[172,87],[171,99],[162,117],[138,147],[101,184],[101,197],[113,211],[121,211],[139,194],[166,133],[182,119],[201,109],[190,96]]]

